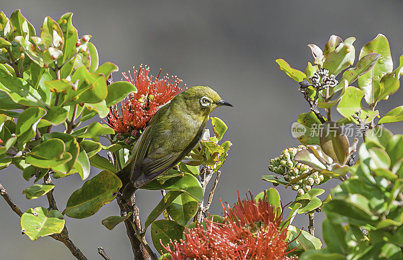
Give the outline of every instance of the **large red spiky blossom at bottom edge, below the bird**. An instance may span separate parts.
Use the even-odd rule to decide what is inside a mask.
[[[224,205],[223,205],[224,207]],[[184,239],[171,241],[164,248],[173,260],[185,259],[297,259],[288,257],[287,224],[282,214],[270,205],[267,197],[255,201],[253,196],[231,209],[224,207],[225,222],[206,219],[206,228],[197,225],[183,232]]]

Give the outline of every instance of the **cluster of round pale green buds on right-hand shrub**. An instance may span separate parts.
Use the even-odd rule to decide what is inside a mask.
[[[286,148],[281,152],[280,156],[271,159],[268,165],[270,171],[284,176],[284,180],[287,182],[291,182],[302,174],[308,175],[291,186],[293,191],[297,191],[297,196],[304,195],[312,189],[312,186],[319,185],[324,180],[323,175],[319,174],[318,171],[314,171],[312,167],[294,160],[294,155],[303,149],[306,149],[306,146],[299,145],[297,148]]]

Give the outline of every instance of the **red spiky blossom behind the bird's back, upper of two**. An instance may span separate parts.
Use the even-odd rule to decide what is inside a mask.
[[[176,95],[185,89],[186,84],[177,76],[166,74],[162,78],[160,72],[157,77],[150,74],[150,67],[140,65],[139,70],[133,67],[134,75],[122,72],[124,78],[136,86],[137,93],[128,95],[121,103],[113,105],[109,109],[106,123],[115,132],[129,133],[133,135],[146,128],[148,122],[157,112],[158,108],[170,102]]]

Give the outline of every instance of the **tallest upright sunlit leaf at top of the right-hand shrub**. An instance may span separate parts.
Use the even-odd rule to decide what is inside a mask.
[[[358,78],[357,84],[365,94],[365,101],[374,104],[380,94],[379,82],[381,78],[392,71],[393,62],[390,54],[389,42],[382,34],[378,34],[375,39],[365,44],[360,52],[360,59],[370,53],[378,53],[381,56],[376,64],[364,75]]]

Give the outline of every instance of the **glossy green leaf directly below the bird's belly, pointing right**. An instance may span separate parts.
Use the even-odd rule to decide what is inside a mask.
[[[153,180],[141,187],[141,189],[182,191],[186,192],[199,202],[203,200],[203,189],[201,188],[199,181],[187,172],[183,173],[183,177],[171,178],[164,184],[159,184],[157,180]]]

